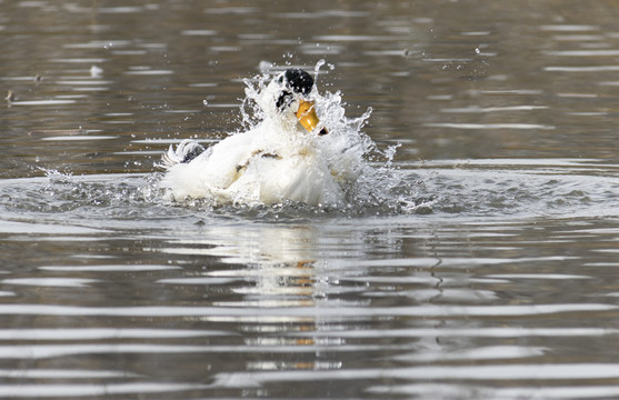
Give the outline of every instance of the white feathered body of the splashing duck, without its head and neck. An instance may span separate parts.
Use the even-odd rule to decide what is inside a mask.
[[[289,200],[318,206],[342,200],[342,189],[316,143],[274,141],[266,129],[262,124],[230,136],[189,162],[172,164],[161,187],[177,201],[206,198],[214,204]],[[192,144],[186,141],[184,148]],[[174,157],[181,159],[182,154]]]

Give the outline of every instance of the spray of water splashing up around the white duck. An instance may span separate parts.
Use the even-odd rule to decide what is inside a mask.
[[[315,82],[319,81],[320,69],[325,64],[326,61],[321,60],[315,66]],[[333,66],[329,68],[332,69]],[[196,206],[196,198],[203,197],[204,200],[198,200],[198,203],[210,208],[221,208],[231,203],[234,207],[249,204],[250,208],[260,208],[267,204],[287,210],[316,208],[320,211],[347,213],[415,212],[420,207],[419,200],[415,199],[415,187],[402,179],[392,163],[399,144],[379,149],[363,132],[372,109],[368,108],[361,116],[349,118],[346,116],[348,104],[342,93],[320,92],[319,84],[315,83],[309,100],[316,104],[316,112],[321,121],[319,128],[325,127],[329,134],[318,136],[316,132],[299,131],[294,128],[297,120],[288,121],[282,118],[281,110],[273,101],[277,99],[274,94],[282,90],[277,86],[274,78],[283,69],[269,64],[268,69],[261,69],[261,74],[243,80],[246,98],[240,107],[242,131],[237,131],[232,136],[251,134],[260,138],[263,147],[277,146],[277,149],[283,149],[282,152],[279,150],[273,152],[277,154],[302,154],[309,151],[312,154],[311,162],[306,167],[316,168],[318,173],[313,177],[318,180],[312,181],[312,186],[308,184],[309,179],[301,179],[300,184],[309,187],[303,190],[320,191],[319,197],[311,196],[313,199],[321,200],[299,203],[279,201],[276,196],[272,197],[276,201],[268,201],[263,199],[262,193],[257,198],[256,190],[262,189],[260,184],[254,184],[243,190],[232,190],[232,186],[224,189],[218,187],[207,190],[204,196],[181,196],[181,202]],[[304,168],[303,163],[297,164],[297,168]],[[193,177],[200,178],[196,174]],[[248,177],[254,178],[256,181],[261,179],[260,172],[250,171],[249,168],[243,172],[242,179],[249,180]],[[164,187],[170,181],[171,179],[164,177]],[[262,184],[270,186],[270,182],[262,181]],[[173,197],[173,200],[179,200],[178,196]],[[425,201],[423,207],[427,209],[428,206],[429,202]]]

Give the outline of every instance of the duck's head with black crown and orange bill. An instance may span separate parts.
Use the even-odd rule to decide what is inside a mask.
[[[302,69],[291,68],[280,73],[273,82],[279,86],[276,96],[278,111],[282,114],[293,113],[308,132],[313,132],[320,122],[316,114],[315,102],[309,100],[313,89],[313,78]],[[327,134],[327,129],[320,129],[318,134]]]

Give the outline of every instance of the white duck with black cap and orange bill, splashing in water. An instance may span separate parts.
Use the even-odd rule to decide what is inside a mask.
[[[170,146],[160,167],[164,197],[220,204],[338,206],[343,174],[326,154],[331,134],[317,114],[313,77],[299,68],[277,74],[256,96],[261,121],[204,147],[193,139]]]

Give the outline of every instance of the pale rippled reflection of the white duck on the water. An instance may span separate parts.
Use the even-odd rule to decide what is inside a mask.
[[[276,314],[243,311],[234,318],[248,338],[243,344],[251,349],[286,351],[291,357],[263,357],[247,363],[248,371],[333,370],[342,362],[325,357],[345,341],[319,334],[329,329],[322,321],[321,309],[329,307],[329,263],[318,261],[320,230],[311,226],[251,224],[211,226],[200,232],[199,240],[174,240],[169,253],[213,256],[231,268],[209,270],[198,278],[169,280],[174,284],[203,284],[213,278],[243,279],[251,284],[233,289],[241,300],[218,301],[223,308],[276,309]],[[299,309],[307,309],[296,316]],[[292,310],[292,314],[287,312]],[[266,317],[266,318],[264,318]],[[228,317],[216,318],[226,320]],[[332,322],[332,321],[331,321]],[[299,336],[301,334],[301,336]],[[260,351],[261,352],[261,351]],[[229,378],[221,378],[228,380]]]

